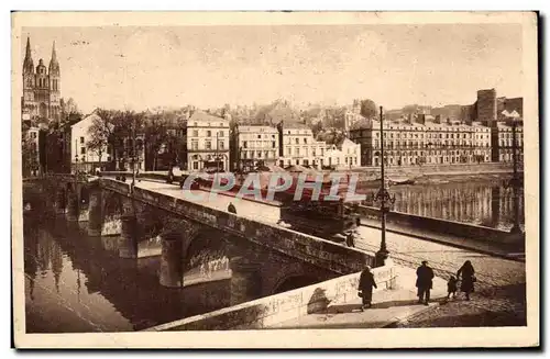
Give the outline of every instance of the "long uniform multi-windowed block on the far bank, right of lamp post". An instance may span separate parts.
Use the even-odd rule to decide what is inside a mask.
[[[380,121],[355,128],[351,139],[361,144],[363,166],[381,165]],[[384,157],[388,166],[469,164],[491,160],[491,130],[461,123],[384,123]]]

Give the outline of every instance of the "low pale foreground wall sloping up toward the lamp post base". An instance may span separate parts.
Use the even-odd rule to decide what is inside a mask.
[[[394,289],[397,284],[395,266],[373,269],[375,291]],[[331,302],[358,298],[360,272],[342,276],[317,284],[230,306],[202,315],[158,325],[145,332],[165,330],[231,330],[262,329],[302,315],[323,312]]]

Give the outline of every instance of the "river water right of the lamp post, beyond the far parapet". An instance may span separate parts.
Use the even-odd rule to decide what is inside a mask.
[[[512,188],[495,186],[494,182],[394,186],[391,192],[396,197],[394,210],[398,212],[501,229],[510,229],[514,224],[514,191]],[[519,222],[522,224],[522,189],[519,195]]]

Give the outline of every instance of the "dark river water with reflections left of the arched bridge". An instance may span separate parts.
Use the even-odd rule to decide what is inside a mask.
[[[25,222],[28,333],[133,332],[229,305],[229,281],[161,287],[160,257],[121,260],[117,240]]]

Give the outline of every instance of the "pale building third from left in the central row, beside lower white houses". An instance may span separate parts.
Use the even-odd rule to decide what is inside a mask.
[[[326,166],[324,141],[316,141],[309,127],[299,123],[277,125],[279,133],[279,166],[300,165],[322,168]]]

